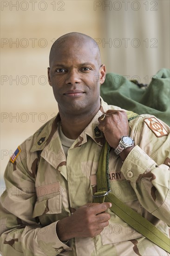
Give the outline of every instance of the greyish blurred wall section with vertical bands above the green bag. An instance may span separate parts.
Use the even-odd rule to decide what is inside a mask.
[[[106,4],[107,70],[149,83],[159,69],[170,68],[170,1],[106,0]]]

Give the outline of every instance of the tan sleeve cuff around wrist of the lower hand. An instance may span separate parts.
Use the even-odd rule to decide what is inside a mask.
[[[58,222],[58,221],[57,221]],[[62,243],[59,240],[59,237],[56,233],[57,222],[42,228],[38,233],[38,243],[39,247],[46,253],[48,256],[57,255],[66,249],[70,249],[65,243]]]

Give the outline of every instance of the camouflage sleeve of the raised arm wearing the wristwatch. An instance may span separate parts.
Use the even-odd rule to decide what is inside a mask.
[[[159,124],[165,129],[164,134]],[[136,146],[126,157],[121,171],[144,209],[170,225],[169,127],[159,120],[157,126],[154,123],[148,126],[144,121],[140,126],[133,121],[131,127],[130,135]]]

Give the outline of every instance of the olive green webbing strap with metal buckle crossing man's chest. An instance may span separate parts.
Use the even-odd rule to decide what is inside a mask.
[[[133,112],[132,112],[133,113]],[[133,113],[134,114],[134,113]],[[136,115],[137,116],[137,115]],[[135,116],[135,117],[136,117]],[[128,120],[130,118],[128,117]],[[132,119],[132,118],[131,118]],[[170,253],[170,239],[157,229],[151,222],[131,209],[124,202],[120,201],[110,191],[108,180],[110,146],[105,142],[99,159],[97,171],[98,192],[93,195],[93,202],[111,202],[111,210],[118,215],[124,222],[129,224],[137,232],[148,238],[151,242]]]

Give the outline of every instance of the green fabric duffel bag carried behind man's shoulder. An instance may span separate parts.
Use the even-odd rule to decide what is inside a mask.
[[[100,95],[108,104],[137,114],[155,115],[170,126],[170,70],[163,68],[149,85],[129,81],[123,75],[108,73]]]

